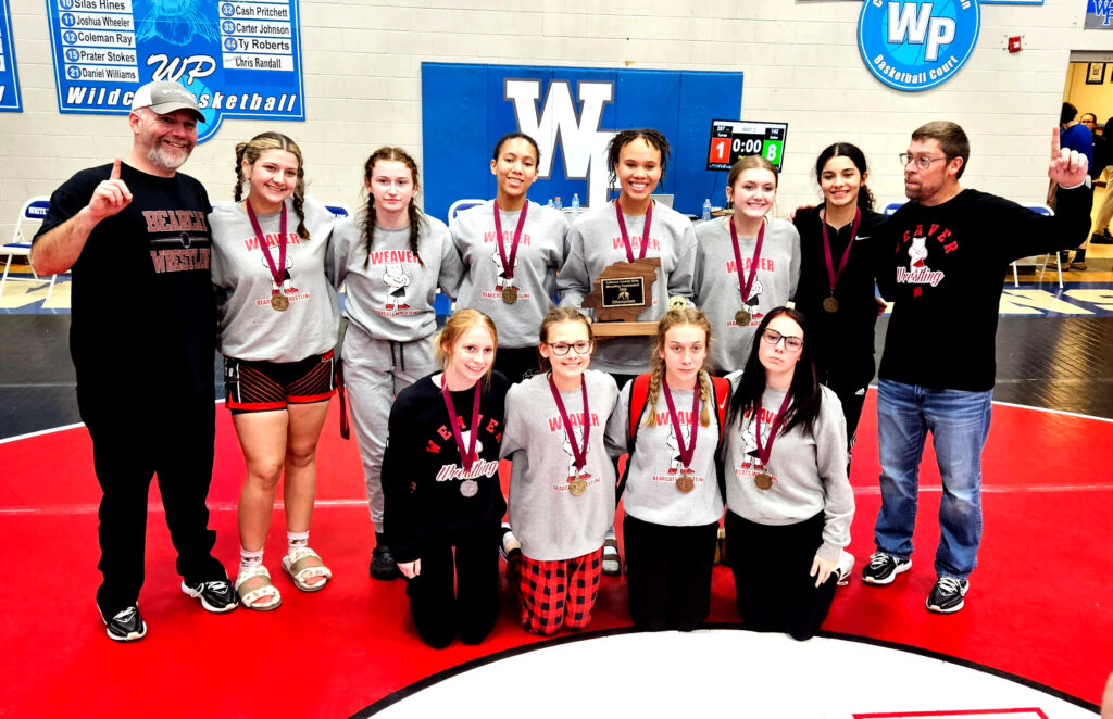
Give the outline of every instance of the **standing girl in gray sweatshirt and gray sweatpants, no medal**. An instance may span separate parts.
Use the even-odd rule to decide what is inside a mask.
[[[417,207],[417,162],[381,147],[363,168],[367,205],[336,228],[336,286],[347,283],[344,380],[352,398],[371,521],[371,575],[400,577],[383,531],[383,451],[394,397],[436,371],[433,299],[456,296],[463,265],[449,228]]]

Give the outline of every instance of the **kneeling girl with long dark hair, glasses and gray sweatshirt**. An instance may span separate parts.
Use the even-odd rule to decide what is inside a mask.
[[[735,384],[723,447],[727,554],[755,631],[809,639],[830,609],[854,492],[838,396],[816,380],[807,321],[777,307]]]

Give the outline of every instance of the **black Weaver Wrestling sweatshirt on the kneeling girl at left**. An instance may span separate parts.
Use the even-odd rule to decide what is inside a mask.
[[[475,432],[479,457],[466,470],[434,376],[400,392],[391,407],[383,456],[384,524],[398,562],[420,559],[423,546],[454,544],[476,531],[490,530],[494,543],[506,512],[499,445],[510,382],[494,372],[490,386],[481,385],[476,427],[471,426],[474,387],[451,393],[464,445]]]

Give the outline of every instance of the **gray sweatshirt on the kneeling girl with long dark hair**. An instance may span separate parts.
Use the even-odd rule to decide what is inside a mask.
[[[738,373],[740,374],[740,373]],[[737,386],[738,374],[730,377]],[[824,543],[817,553],[829,560],[850,543],[854,491],[847,480],[846,420],[838,396],[820,385],[823,402],[814,434],[799,425],[778,433],[769,464],[762,466],[755,439],[752,415],[736,421],[727,435],[727,506],[760,524],[795,524],[824,513]],[[761,446],[768,442],[769,424],[785,400],[785,390],[767,388],[761,395]],[[758,489],[759,473],[774,477],[768,490]]]

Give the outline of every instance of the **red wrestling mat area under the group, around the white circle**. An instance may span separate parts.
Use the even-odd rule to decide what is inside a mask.
[[[178,589],[156,489],[140,597],[149,630],[146,639],[128,646],[105,637],[93,604],[99,490],[88,434],[78,427],[0,445],[6,477],[0,542],[9,558],[8,581],[0,588],[7,648],[0,659],[0,715],[344,717],[432,673],[538,641],[519,628],[514,608],[504,601],[481,646],[457,642],[435,651],[421,643],[403,583],[367,577],[373,535],[358,456],[354,442],[336,436],[335,403],[332,412],[318,452],[311,540],[333,569],[328,588],[303,594],[282,573],[279,509],[266,563],[283,592],[283,607],[269,613],[203,611]],[[871,394],[851,477],[858,500],[850,546],[856,569],[873,551],[880,501],[875,416]],[[217,417],[211,526],[218,532],[217,557],[234,570],[235,503],[244,466],[223,406]],[[935,580],[939,501],[928,450],[913,570],[888,588],[864,587],[856,571],[850,585],[839,590],[824,629],[939,652],[1097,702],[1113,669],[1111,430],[1111,423],[1099,420],[994,407],[985,454],[982,567],[972,578],[966,608],[948,617],[924,609]],[[716,569],[709,620],[738,621],[725,568]],[[590,629],[629,623],[624,581],[604,578]],[[605,680],[603,667],[591,673]]]

